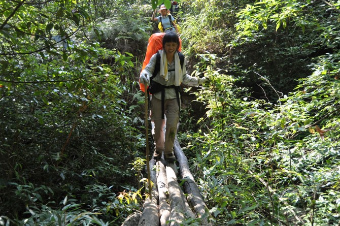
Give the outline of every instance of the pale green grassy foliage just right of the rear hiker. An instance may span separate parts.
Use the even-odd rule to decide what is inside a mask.
[[[220,53],[230,40],[233,18],[229,1],[182,1],[181,38],[190,53]],[[190,12],[190,13],[189,13]],[[231,30],[230,30],[231,29]],[[191,54],[189,54],[189,57]]]

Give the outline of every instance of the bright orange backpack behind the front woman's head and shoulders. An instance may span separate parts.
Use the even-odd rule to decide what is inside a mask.
[[[150,36],[148,47],[146,49],[145,59],[143,61],[142,71],[148,65],[151,56],[153,56],[153,54],[157,53],[158,50],[163,49],[163,37],[164,37],[164,35],[165,35],[165,33],[155,33],[155,34],[152,34]],[[181,48],[182,48],[182,41],[180,39],[180,47],[179,47],[178,50],[181,51]],[[139,81],[139,82],[140,82],[141,90],[143,92],[145,92],[145,85],[143,83],[141,83],[141,81]]]

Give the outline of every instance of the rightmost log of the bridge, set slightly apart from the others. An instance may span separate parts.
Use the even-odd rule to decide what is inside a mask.
[[[202,218],[203,225],[212,225],[208,223],[208,218],[210,217],[209,210],[205,202],[203,201],[198,186],[190,172],[188,158],[182,151],[182,148],[177,140],[177,137],[175,139],[174,144],[174,153],[179,163],[182,179],[185,180],[184,190],[188,194],[187,199],[190,206],[192,206],[195,209],[197,217]]]

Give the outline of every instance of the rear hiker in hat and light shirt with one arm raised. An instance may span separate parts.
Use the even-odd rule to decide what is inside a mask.
[[[177,25],[174,22],[175,18],[170,14],[170,11],[166,9],[164,5],[161,5],[160,9],[158,10],[158,13],[160,13],[161,15],[158,17],[155,17],[156,10],[157,9],[155,9],[155,11],[153,12],[151,16],[151,21],[161,22],[165,33],[169,33],[169,32],[178,33]],[[169,19],[171,19],[171,21]]]

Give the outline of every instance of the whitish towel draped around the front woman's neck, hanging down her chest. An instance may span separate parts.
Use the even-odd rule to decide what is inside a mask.
[[[160,77],[164,78],[165,81],[168,81],[166,53],[164,50],[159,50],[159,54],[160,54],[159,75]],[[175,53],[174,58],[175,58],[175,85],[179,86],[181,85],[183,78],[180,57],[178,56],[177,52]]]

